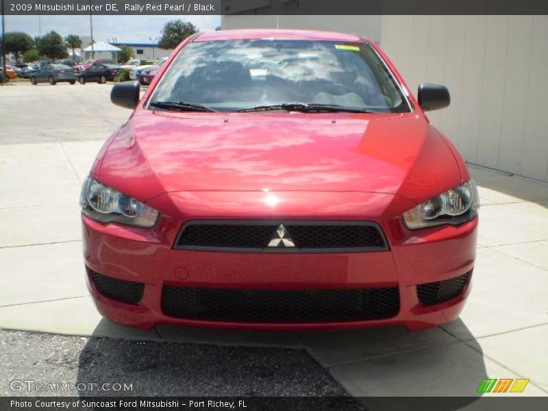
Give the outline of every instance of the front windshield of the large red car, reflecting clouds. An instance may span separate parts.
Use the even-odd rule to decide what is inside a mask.
[[[151,107],[184,102],[219,111],[295,103],[410,110],[370,45],[316,40],[192,42],[177,55],[150,101]]]

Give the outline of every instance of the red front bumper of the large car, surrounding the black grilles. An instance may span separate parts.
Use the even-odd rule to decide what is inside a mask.
[[[292,196],[298,200],[297,195]],[[152,230],[105,225],[82,216],[88,288],[103,316],[116,323],[140,328],[151,328],[163,323],[253,329],[340,329],[403,325],[414,330],[456,319],[470,292],[477,218],[459,226],[440,226],[410,232],[399,219],[383,217],[382,210],[389,209],[392,200],[385,199],[383,202],[379,197],[364,197],[361,200],[364,199],[371,200],[371,204],[377,204],[378,210],[377,215],[373,215],[373,210],[373,214],[370,213],[360,220],[379,223],[389,242],[388,251],[235,253],[181,250],[174,249],[173,245],[185,220],[182,216],[175,215],[176,212],[171,213],[173,217],[162,215],[157,227]],[[176,199],[173,200],[173,203],[177,203]],[[348,201],[348,209],[339,210],[337,219],[358,220],[354,206],[350,206],[356,203],[359,201]],[[303,218],[302,214],[281,211],[281,215],[287,219]],[[238,212],[241,212],[241,208],[235,204],[234,211],[225,208],[222,217],[244,218],[234,215]],[[261,210],[256,212],[262,213]],[[187,221],[203,219],[203,214],[194,214],[192,210],[184,210],[184,214]],[[221,217],[213,214],[212,208],[208,216],[212,219]],[[321,211],[313,214],[308,217],[325,218],[325,215],[320,215]],[[253,214],[251,217],[258,216]],[[246,214],[246,218],[249,218],[249,214]],[[92,279],[92,273],[142,284],[142,297],[133,303],[108,297],[108,294],[99,290]],[[458,277],[465,280],[455,295],[440,302],[419,301],[418,286],[421,284],[445,282]],[[260,292],[276,295],[288,291],[306,293],[311,290],[319,292],[395,288],[399,297],[399,308],[388,317],[373,316],[362,320],[241,321],[241,316],[238,321],[231,321],[229,318],[221,321],[189,319],[179,318],[166,310],[165,303],[162,305],[164,290],[177,287],[232,290],[259,295]]]

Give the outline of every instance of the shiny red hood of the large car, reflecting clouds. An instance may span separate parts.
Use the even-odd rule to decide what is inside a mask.
[[[93,173],[141,200],[283,190],[382,192],[419,202],[462,180],[445,139],[416,113],[137,110]]]

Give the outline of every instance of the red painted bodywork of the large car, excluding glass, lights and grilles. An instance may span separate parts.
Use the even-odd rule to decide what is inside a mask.
[[[309,38],[363,43],[327,32],[242,30],[188,41]],[[469,180],[455,147],[427,120],[416,99],[402,114],[295,112],[204,113],[145,109],[184,47],[155,76],[138,108],[105,143],[92,176],[160,210],[152,229],[103,224],[82,216],[84,258],[92,271],[145,283],[136,306],[104,297],[89,281],[97,308],[134,327],[158,323],[259,329],[404,325],[421,329],[455,319],[469,294],[423,306],[416,285],[473,271],[477,217],[461,225],[407,229],[401,214]],[[384,53],[393,75],[407,90]],[[443,171],[443,172],[441,172]],[[389,251],[365,253],[229,253],[175,250],[192,220],[373,221]],[[397,286],[399,314],[331,323],[233,323],[166,316],[165,284],[203,288],[307,290]]]

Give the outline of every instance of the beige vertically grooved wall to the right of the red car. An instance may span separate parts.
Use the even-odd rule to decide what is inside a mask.
[[[429,117],[467,161],[548,181],[548,16],[383,16],[381,45],[414,92],[449,88]]]

